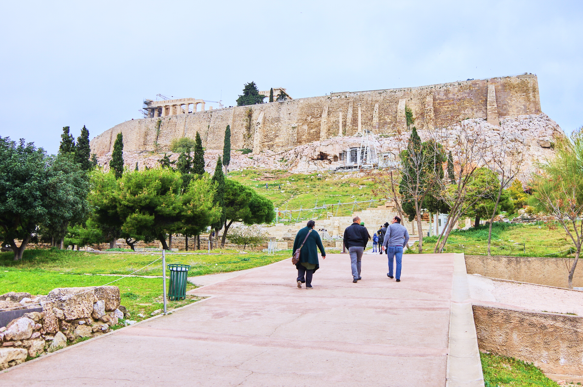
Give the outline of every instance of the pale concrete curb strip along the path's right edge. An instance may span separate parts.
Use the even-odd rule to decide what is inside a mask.
[[[446,387],[484,387],[482,362],[477,347],[466,261],[463,253],[454,253],[454,279],[449,315],[449,353]]]

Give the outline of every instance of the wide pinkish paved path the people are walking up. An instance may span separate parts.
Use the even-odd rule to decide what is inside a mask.
[[[0,385],[483,386],[475,331],[455,325],[473,324],[471,308],[452,308],[468,297],[452,296],[468,292],[465,264],[454,272],[463,256],[405,255],[400,283],[385,259],[364,256],[352,283],[348,254],[329,254],[311,290],[289,259],[240,273],[171,315],[13,367]]]

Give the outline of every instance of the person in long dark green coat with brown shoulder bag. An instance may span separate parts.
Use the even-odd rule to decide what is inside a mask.
[[[301,289],[301,284],[305,282],[305,289],[312,289],[312,274],[319,269],[318,262],[318,248],[322,253],[322,260],[326,259],[326,251],[324,251],[324,245],[317,232],[314,231],[314,226],[316,223],[314,221],[308,221],[308,225],[303,229],[299,230],[296,234],[296,240],[293,243],[293,250],[296,251],[300,248],[301,243],[304,242],[305,236],[308,235],[308,239],[305,240],[304,246],[300,250],[300,261],[297,262],[297,287]]]

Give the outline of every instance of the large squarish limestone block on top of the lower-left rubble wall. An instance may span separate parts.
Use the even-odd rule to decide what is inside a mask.
[[[57,287],[48,293],[47,303],[62,310],[65,320],[70,321],[91,315],[93,297],[93,289],[90,287]]]

